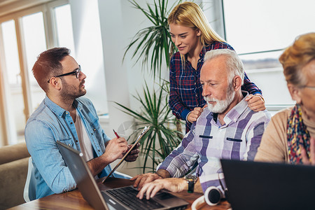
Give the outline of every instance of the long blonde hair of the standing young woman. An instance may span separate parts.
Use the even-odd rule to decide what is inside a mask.
[[[214,43],[214,41],[226,42],[211,28],[202,9],[196,3],[186,1],[175,6],[169,14],[167,22],[169,25],[176,24],[183,27],[199,29],[201,31],[200,43],[202,43],[203,46]],[[184,65],[185,56],[181,55],[181,59]]]

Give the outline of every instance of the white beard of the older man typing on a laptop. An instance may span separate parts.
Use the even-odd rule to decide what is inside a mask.
[[[229,90],[225,95],[225,100],[218,100],[213,97],[204,97],[204,100],[208,104],[209,111],[213,113],[223,113],[223,111],[228,109],[228,106],[232,103],[234,97],[235,91],[229,87]],[[216,102],[216,104],[210,104],[209,102]]]

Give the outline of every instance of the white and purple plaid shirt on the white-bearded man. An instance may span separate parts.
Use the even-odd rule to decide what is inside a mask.
[[[165,158],[158,169],[165,169],[172,177],[184,176],[197,161],[197,176],[202,189],[220,186],[218,173],[222,172],[220,159],[253,160],[265,127],[270,120],[268,111],[255,112],[244,99],[224,117],[225,125],[204,109],[193,123],[181,144]]]

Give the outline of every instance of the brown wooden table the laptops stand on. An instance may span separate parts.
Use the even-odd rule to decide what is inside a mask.
[[[130,186],[132,184],[131,181],[127,179],[118,179],[118,178],[109,178],[106,180],[105,184],[102,184],[102,180],[98,181],[98,185],[100,190],[108,190],[111,188],[119,188],[123,186]],[[172,193],[177,197],[181,197],[183,200],[186,200],[190,204],[187,209],[191,209],[191,204],[200,196],[202,193]],[[210,207],[207,204],[204,205],[200,209],[211,209],[211,210],[226,210],[230,208],[230,204],[228,202],[221,202],[221,204]],[[17,207],[13,207],[11,209],[92,209],[92,207],[83,199],[80,191],[78,189],[61,193],[49,195],[47,197],[42,197],[41,199],[34,200],[31,202],[27,202],[25,204],[21,204]]]

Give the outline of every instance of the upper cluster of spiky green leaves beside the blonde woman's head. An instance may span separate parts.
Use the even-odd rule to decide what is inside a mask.
[[[167,23],[167,17],[170,13],[168,0],[158,0],[158,3],[154,1],[153,6],[146,3],[147,8],[142,8],[135,0],[130,0],[129,2],[132,3],[134,8],[141,10],[152,25],[137,32],[131,43],[127,46],[123,59],[125,59],[127,52],[132,47],[135,47],[132,58],[137,57],[136,62],[141,60],[143,69],[150,64],[153,78],[155,76],[161,78],[161,71],[164,66],[163,61],[165,60],[166,64],[164,67],[168,68],[170,57],[176,50],[169,34],[169,25]],[[181,3],[181,0],[174,3],[174,5],[177,3]],[[174,8],[174,5],[170,8]]]

